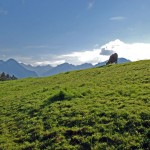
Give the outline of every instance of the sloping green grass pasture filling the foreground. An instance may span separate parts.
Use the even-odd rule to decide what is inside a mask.
[[[150,148],[150,60],[0,82],[0,149]]]

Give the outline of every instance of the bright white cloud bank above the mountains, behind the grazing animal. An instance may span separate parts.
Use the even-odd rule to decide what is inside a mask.
[[[76,51],[51,58],[47,57],[51,61],[36,62],[35,65],[51,64],[52,66],[56,66],[64,62],[74,65],[83,63],[95,65],[108,60],[109,56],[115,52],[118,53],[119,57],[124,57],[131,61],[150,59],[150,43],[124,43],[117,39],[96,49]]]

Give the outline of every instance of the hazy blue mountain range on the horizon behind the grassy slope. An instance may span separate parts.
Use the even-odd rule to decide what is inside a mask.
[[[125,62],[130,62],[130,60],[126,58],[118,58],[118,63],[125,63]],[[9,59],[7,61],[0,60],[0,72],[5,72],[10,75],[14,75],[17,78],[41,77],[41,76],[51,76],[62,72],[72,71],[72,70],[83,70],[87,68],[103,66],[105,64],[106,61],[100,62],[96,65],[84,63],[82,65],[75,66],[69,63],[63,63],[56,67],[52,67],[50,65],[32,66],[32,65],[19,63],[14,59]]]

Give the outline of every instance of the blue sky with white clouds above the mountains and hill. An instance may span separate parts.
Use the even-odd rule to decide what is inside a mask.
[[[150,0],[0,0],[0,60],[56,66],[150,59]]]

